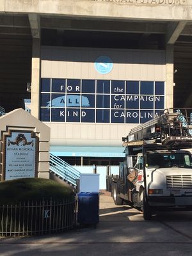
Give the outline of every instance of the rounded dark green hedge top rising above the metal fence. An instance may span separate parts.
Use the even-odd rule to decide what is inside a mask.
[[[63,200],[71,198],[72,188],[63,186],[54,180],[27,178],[0,182],[0,205],[15,205],[19,202],[40,200]]]

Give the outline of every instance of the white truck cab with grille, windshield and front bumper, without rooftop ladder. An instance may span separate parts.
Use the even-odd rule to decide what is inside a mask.
[[[151,218],[152,212],[192,207],[192,157],[188,151],[150,150],[144,156],[140,153],[136,164],[128,167],[127,179],[129,200],[141,211],[147,207],[143,212],[146,219]]]

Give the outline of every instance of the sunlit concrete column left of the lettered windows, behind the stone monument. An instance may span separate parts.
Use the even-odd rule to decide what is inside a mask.
[[[31,63],[31,115],[39,119],[40,106],[40,38],[33,38]]]

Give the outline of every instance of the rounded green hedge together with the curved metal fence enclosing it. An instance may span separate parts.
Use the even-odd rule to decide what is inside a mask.
[[[0,182],[0,235],[25,236],[69,230],[76,200],[72,188],[54,180],[28,178]]]

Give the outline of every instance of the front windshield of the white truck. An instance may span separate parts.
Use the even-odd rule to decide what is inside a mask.
[[[147,168],[192,168],[191,154],[182,152],[147,154]]]

